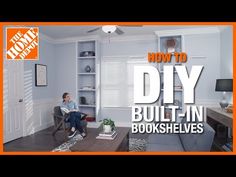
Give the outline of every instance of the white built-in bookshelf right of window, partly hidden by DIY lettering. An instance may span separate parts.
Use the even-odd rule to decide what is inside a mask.
[[[157,34],[158,35],[158,34]],[[171,49],[168,50],[168,47],[166,45],[168,40],[175,40],[175,52],[182,52],[184,51],[184,38],[182,35],[158,35],[158,52],[164,52],[167,53],[169,52]],[[174,56],[172,56],[174,57]],[[176,63],[175,62],[175,58],[172,58],[171,63],[160,63],[158,64],[158,70],[160,71],[160,79],[161,79],[161,83],[163,83],[163,65],[181,65],[181,63]],[[169,104],[169,105],[176,105],[179,106],[179,109],[176,112],[176,115],[179,113],[184,113],[185,112],[185,106],[184,106],[184,98],[183,98],[183,89],[182,89],[182,84],[181,81],[177,75],[177,72],[174,70],[174,103],[173,104]],[[166,83],[165,83],[166,84]],[[168,106],[168,104],[163,104],[163,88],[162,88],[162,84],[161,84],[161,95],[159,97],[158,100],[158,104],[163,106],[165,105],[165,107]],[[166,114],[168,114],[168,116],[170,116],[170,111],[168,111],[168,109],[166,109]],[[167,116],[167,115],[166,115]],[[177,122],[180,122],[180,119],[177,119]]]

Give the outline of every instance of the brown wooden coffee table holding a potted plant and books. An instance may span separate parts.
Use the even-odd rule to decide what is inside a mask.
[[[87,136],[73,145],[70,150],[73,152],[112,152],[129,151],[129,130],[127,127],[117,127],[117,136],[114,140],[96,139],[101,129],[88,129]]]

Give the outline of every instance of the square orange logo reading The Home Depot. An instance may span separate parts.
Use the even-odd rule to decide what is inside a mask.
[[[7,28],[7,60],[38,60],[38,28]]]

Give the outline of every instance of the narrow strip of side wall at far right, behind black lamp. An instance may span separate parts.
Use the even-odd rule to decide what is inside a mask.
[[[233,31],[232,27],[227,27],[220,34],[220,78],[233,78]],[[228,92],[227,99],[233,103],[233,94]]]

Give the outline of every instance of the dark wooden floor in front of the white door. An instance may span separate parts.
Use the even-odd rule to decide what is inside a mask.
[[[29,135],[23,138],[16,139],[3,145],[5,152],[49,152],[68,141],[63,131],[58,131],[55,136],[52,136],[54,127],[47,128],[39,131],[33,135]],[[129,135],[131,138],[146,139],[147,134],[132,134]]]

